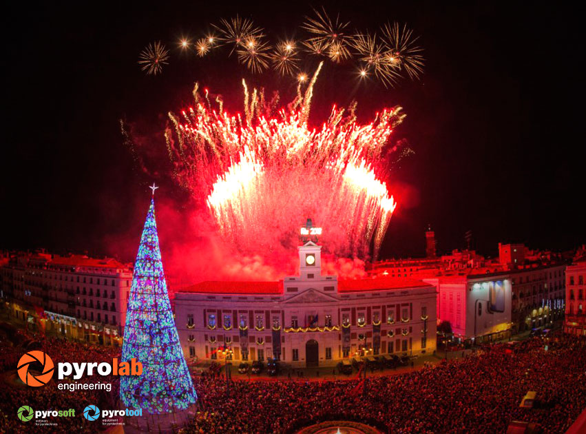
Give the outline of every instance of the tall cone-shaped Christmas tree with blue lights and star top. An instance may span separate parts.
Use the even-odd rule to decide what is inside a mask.
[[[129,408],[171,413],[195,404],[197,395],[183,357],[167,293],[155,220],[154,192],[134,265],[122,360],[143,364],[142,375],[121,377],[120,396]]]

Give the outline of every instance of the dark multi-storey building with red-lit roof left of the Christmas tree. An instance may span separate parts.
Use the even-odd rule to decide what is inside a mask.
[[[10,314],[48,335],[120,344],[132,269],[112,258],[14,254],[0,268]],[[30,326],[29,326],[30,324]]]

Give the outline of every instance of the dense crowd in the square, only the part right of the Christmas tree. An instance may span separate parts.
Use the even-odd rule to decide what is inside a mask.
[[[512,350],[514,348],[514,350]],[[187,434],[293,433],[323,420],[356,420],[383,432],[505,433],[513,420],[564,433],[586,408],[586,341],[559,335],[512,347],[493,344],[477,355],[404,375],[358,380],[196,383],[200,413]],[[358,389],[358,390],[357,390]],[[519,407],[536,391],[538,407]],[[356,393],[358,392],[358,393]]]

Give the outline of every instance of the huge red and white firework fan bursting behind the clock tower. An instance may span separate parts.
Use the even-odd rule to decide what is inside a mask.
[[[320,65],[321,66],[321,65]],[[384,110],[367,125],[354,107],[333,107],[320,128],[308,126],[318,70],[296,99],[276,101],[244,84],[244,116],[215,110],[198,89],[193,107],[169,114],[167,146],[178,183],[209,209],[222,237],[243,255],[267,256],[297,245],[311,217],[336,256],[375,256],[396,202],[377,176],[381,152],[404,115]]]

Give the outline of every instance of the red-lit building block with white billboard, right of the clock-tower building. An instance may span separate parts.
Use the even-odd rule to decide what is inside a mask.
[[[562,258],[531,251],[523,244],[504,243],[499,243],[496,259],[468,249],[430,258],[428,234],[426,258],[381,261],[372,274],[416,278],[435,285],[437,317],[450,322],[456,338],[501,339],[563,317],[566,266]],[[499,309],[492,304],[496,296]]]

